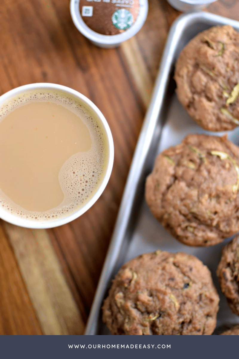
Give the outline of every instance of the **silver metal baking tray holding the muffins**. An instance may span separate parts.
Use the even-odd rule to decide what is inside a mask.
[[[232,25],[239,32],[239,22],[206,12],[183,14],[176,19],[170,29],[85,335],[110,334],[101,321],[101,306],[111,280],[125,262],[142,253],[157,249],[190,253],[209,267],[220,295],[220,309],[214,334],[219,334],[220,330],[234,323],[239,323],[239,317],[229,308],[216,277],[221,250],[230,238],[212,247],[189,247],[181,244],[152,216],[144,199],[145,179],[152,171],[158,153],[180,143],[187,134],[206,133],[221,136],[226,133],[202,130],[178,102],[175,94],[176,84],[173,80],[175,61],[188,41],[211,26],[225,24]],[[239,145],[239,129],[227,133],[229,140]]]

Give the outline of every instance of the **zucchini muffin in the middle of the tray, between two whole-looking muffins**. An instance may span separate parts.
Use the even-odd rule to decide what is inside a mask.
[[[239,230],[239,148],[227,136],[188,135],[156,158],[145,198],[176,239],[211,246]]]

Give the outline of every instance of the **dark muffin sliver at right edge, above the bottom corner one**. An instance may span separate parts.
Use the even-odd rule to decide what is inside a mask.
[[[239,236],[223,248],[216,274],[231,310],[239,315]]]

